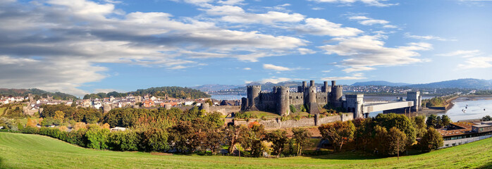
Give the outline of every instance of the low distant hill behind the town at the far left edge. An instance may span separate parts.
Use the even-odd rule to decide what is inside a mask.
[[[78,99],[76,96],[62,92],[46,92],[42,89],[0,89],[0,96],[27,96],[27,94],[37,96],[53,96],[56,100]]]

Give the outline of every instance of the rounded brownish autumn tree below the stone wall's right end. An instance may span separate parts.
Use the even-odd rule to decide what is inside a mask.
[[[336,151],[342,151],[343,144],[354,139],[355,125],[352,121],[337,121],[336,123],[321,125],[318,129],[324,139],[329,139],[333,145],[336,145]]]

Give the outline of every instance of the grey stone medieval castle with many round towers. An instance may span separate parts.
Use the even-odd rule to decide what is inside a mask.
[[[272,92],[262,92],[259,85],[247,86],[247,98],[242,98],[241,111],[269,111],[279,115],[289,115],[290,106],[300,109],[307,106],[310,114],[319,113],[319,106],[331,104],[342,106],[343,87],[336,85],[336,81],[324,82],[321,92],[316,92],[314,80],[307,87],[306,82],[297,87],[297,92],[290,92],[289,87],[273,87]]]

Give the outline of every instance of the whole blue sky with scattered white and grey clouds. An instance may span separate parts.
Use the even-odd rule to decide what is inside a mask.
[[[492,79],[492,1],[0,0],[0,88]]]

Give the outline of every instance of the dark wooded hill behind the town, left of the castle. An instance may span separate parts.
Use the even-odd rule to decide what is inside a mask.
[[[179,99],[199,99],[199,98],[208,98],[209,94],[199,91],[197,89],[192,89],[188,87],[151,87],[149,89],[137,89],[135,92],[126,92],[126,93],[118,93],[118,92],[109,92],[109,93],[97,93],[97,94],[85,94],[84,99],[96,98],[102,99],[110,96],[121,97],[127,96],[128,94],[132,94],[133,96],[144,96],[147,94],[151,94],[152,96],[169,96],[173,98]]]

